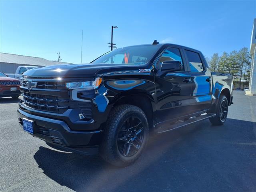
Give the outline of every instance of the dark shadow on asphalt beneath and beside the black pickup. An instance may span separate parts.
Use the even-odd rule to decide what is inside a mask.
[[[255,127],[228,119],[166,132],[126,168],[42,146],[34,159],[46,176],[75,191],[256,191]]]

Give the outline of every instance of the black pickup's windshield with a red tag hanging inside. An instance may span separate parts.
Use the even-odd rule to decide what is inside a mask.
[[[110,51],[92,63],[141,65],[150,61],[160,45],[142,45]]]

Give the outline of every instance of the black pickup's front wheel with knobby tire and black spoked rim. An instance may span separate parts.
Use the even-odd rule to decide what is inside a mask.
[[[100,153],[114,166],[128,166],[141,156],[147,142],[148,122],[144,112],[137,106],[119,105],[106,122]]]

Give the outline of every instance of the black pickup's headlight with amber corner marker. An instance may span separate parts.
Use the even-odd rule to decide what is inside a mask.
[[[86,89],[93,90],[97,89],[102,82],[102,78],[98,77],[95,81],[84,81],[84,82],[69,82],[66,83],[68,89]]]

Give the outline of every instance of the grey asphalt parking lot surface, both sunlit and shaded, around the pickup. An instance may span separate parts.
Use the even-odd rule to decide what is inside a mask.
[[[54,150],[18,125],[0,99],[0,191],[256,191],[256,97],[234,91],[222,126],[208,120],[151,138],[135,164]]]

